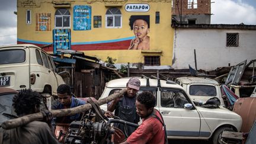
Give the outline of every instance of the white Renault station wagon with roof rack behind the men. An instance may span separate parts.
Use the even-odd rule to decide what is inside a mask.
[[[114,79],[105,86],[101,98],[126,88],[129,78]],[[172,81],[139,78],[140,92],[151,91],[156,96],[155,108],[164,117],[169,139],[204,139],[219,143],[223,130],[239,132],[241,117],[226,108],[196,106],[184,89]],[[104,110],[107,104],[101,105]]]

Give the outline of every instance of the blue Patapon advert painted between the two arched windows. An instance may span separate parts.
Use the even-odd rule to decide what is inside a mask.
[[[73,7],[73,30],[91,30],[91,6]]]

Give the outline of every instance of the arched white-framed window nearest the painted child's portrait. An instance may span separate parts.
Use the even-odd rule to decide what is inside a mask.
[[[106,28],[121,28],[121,11],[118,8],[109,8],[105,14]]]

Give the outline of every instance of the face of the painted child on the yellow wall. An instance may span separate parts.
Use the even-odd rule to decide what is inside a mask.
[[[133,23],[133,32],[137,38],[146,37],[149,33],[148,24],[144,20],[136,20]]]

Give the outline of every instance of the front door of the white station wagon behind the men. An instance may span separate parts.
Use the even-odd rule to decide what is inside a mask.
[[[159,111],[167,126],[167,135],[176,137],[199,137],[200,116],[196,108],[185,109],[191,103],[182,89],[159,88]]]

